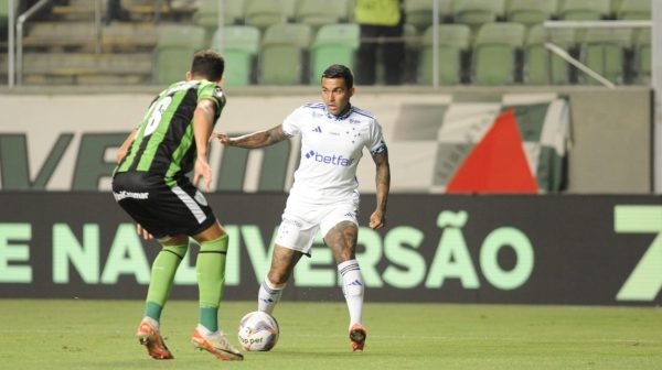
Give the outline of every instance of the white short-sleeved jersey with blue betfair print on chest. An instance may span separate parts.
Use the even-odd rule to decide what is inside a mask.
[[[290,198],[310,204],[357,199],[356,166],[363,148],[373,155],[386,150],[377,120],[353,106],[335,117],[323,102],[306,104],[282,121],[282,131],[301,135],[301,157]]]

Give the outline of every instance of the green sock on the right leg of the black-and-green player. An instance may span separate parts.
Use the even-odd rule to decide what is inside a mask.
[[[197,270],[197,289],[200,294],[200,324],[211,331],[218,330],[218,304],[223,298],[225,284],[225,255],[227,253],[227,235],[200,244]]]

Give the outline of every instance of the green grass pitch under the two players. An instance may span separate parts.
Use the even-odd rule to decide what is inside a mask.
[[[221,324],[254,302],[226,302]],[[271,352],[218,362],[193,350],[196,303],[173,301],[162,329],[175,359],[157,361],[134,339],[137,301],[0,300],[1,369],[660,369],[662,311],[634,307],[369,303],[365,352],[352,352],[341,303],[276,308]]]

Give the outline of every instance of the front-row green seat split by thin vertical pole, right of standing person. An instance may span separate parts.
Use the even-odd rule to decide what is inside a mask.
[[[418,61],[418,83],[434,83],[434,28],[429,26],[423,35],[423,50]],[[466,24],[439,25],[439,84],[456,85],[462,77],[462,54],[469,51],[471,29]]]

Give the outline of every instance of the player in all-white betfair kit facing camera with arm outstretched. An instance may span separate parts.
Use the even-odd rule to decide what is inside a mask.
[[[322,102],[306,104],[281,124],[237,138],[214,133],[223,144],[263,148],[301,135],[301,159],[295,173],[282,221],[276,237],[271,266],[259,287],[258,309],[271,314],[302,254],[310,255],[318,229],[333,252],[342,275],[342,290],[350,312],[352,349],[363,350],[367,331],[362,324],[364,282],[355,259],[359,221],[356,165],[366,148],[376,168],[376,208],[370,227],[386,221],[391,186],[388,151],[377,120],[350,104],[354,95],[352,72],[332,65],[321,77]]]

